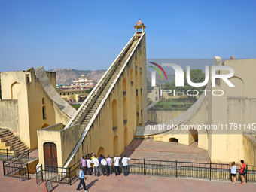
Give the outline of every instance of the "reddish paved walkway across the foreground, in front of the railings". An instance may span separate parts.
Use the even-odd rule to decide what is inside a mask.
[[[2,164],[2,162],[0,162]],[[29,181],[19,181],[17,178],[8,178],[3,176],[2,166],[0,166],[0,192],[12,192],[12,191],[44,191],[44,183],[37,185],[35,179]],[[256,189],[256,184],[239,183],[232,184],[227,181],[205,181],[205,180],[193,180],[182,178],[168,178],[168,177],[156,177],[156,176],[144,176],[144,175],[128,175],[123,174],[117,177],[112,174],[109,177],[100,176],[95,177],[88,176],[86,181],[89,191],[101,191],[101,192],[145,192],[145,191],[177,191],[177,192],[236,192],[246,191],[252,192]],[[69,186],[67,184],[53,183],[54,192],[61,191],[75,191],[78,186],[78,179]],[[80,191],[84,191],[82,188]]]

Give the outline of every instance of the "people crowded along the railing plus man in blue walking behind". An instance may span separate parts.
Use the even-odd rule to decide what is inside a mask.
[[[87,154],[86,156],[81,157],[82,166],[79,172],[80,182],[77,187],[77,191],[80,189],[81,184],[84,187],[84,191],[87,191],[86,184],[84,180],[86,179],[84,175],[111,175],[113,172],[113,164],[114,164],[114,174],[120,175],[120,161],[123,165],[123,175],[128,175],[128,160],[130,158],[125,155],[122,157],[118,157],[116,154],[114,157],[114,163],[112,158],[108,155],[106,158],[104,155],[100,154],[99,157],[95,153]]]

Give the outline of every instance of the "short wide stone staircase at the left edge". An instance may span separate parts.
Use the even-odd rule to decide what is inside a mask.
[[[0,144],[8,150],[29,150],[29,147],[7,129],[0,129]]]

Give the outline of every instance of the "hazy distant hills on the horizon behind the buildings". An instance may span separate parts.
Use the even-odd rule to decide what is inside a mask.
[[[47,70],[49,72],[56,72],[56,84],[70,85],[73,81],[78,80],[81,75],[86,75],[88,78],[93,79],[95,81],[99,81],[100,78],[105,74],[106,70],[78,70],[78,69],[50,69]],[[151,81],[151,72],[147,72],[148,81]],[[167,74],[168,80],[160,77],[160,75],[156,75],[156,83],[157,84],[166,84],[170,83],[174,80],[174,75]]]

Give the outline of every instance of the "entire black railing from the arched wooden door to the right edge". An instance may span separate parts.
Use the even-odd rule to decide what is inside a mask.
[[[112,158],[114,162],[114,158]],[[81,160],[69,168],[39,166],[36,172],[37,184],[41,181],[72,184],[78,176]],[[122,172],[120,163],[120,172]],[[55,171],[48,171],[55,170]],[[114,171],[114,167],[112,167]],[[175,178],[203,178],[209,180],[230,180],[230,165],[221,163],[196,163],[166,160],[131,159],[128,161],[128,173],[139,175],[158,175]],[[236,179],[239,180],[239,169]],[[246,182],[256,182],[256,166],[247,166]]]

